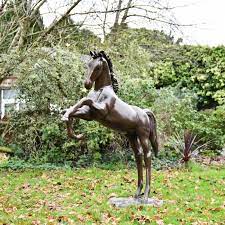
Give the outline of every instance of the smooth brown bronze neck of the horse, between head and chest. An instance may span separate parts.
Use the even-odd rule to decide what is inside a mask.
[[[112,85],[110,72],[108,66],[104,65],[102,73],[99,75],[98,79],[95,80],[95,91],[98,91],[99,89]]]

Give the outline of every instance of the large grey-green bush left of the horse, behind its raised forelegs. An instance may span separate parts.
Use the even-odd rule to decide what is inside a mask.
[[[17,67],[17,88],[20,101],[25,104],[9,121],[12,142],[22,149],[16,155],[42,163],[71,165],[101,160],[99,150],[114,138],[111,131],[95,122],[75,121],[75,132],[86,137],[77,142],[68,139],[61,121],[61,109],[86,95],[81,54],[42,48],[23,57]],[[82,155],[87,155],[90,162],[80,159]]]

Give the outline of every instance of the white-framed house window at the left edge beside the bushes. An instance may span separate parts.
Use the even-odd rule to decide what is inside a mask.
[[[19,102],[16,99],[17,91],[14,89],[0,89],[0,118],[3,119],[12,110],[19,110]]]

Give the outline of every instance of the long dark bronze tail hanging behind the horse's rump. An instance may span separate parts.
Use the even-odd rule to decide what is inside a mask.
[[[158,137],[157,137],[157,124],[155,115],[153,112],[149,109],[144,109],[145,113],[148,115],[149,118],[149,124],[150,124],[150,134],[149,134],[149,140],[152,144],[152,149],[155,154],[155,157],[158,156],[159,153],[159,144],[158,144]]]

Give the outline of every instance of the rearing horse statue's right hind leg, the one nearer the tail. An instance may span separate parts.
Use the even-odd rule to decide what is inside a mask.
[[[148,200],[150,194],[150,185],[151,185],[151,151],[149,148],[149,138],[148,136],[139,138],[143,152],[144,152],[144,162],[146,168],[146,184],[144,191],[144,199]]]

